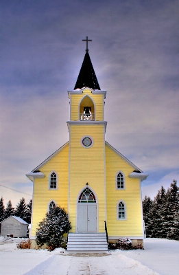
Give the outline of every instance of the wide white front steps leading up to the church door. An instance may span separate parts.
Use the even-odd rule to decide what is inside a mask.
[[[108,251],[106,233],[69,233],[67,251]]]

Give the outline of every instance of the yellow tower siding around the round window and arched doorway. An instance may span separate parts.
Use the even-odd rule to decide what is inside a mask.
[[[77,196],[82,188],[92,188],[99,201],[99,232],[104,232],[105,188],[104,188],[104,125],[71,125],[70,141],[70,208],[69,219],[72,232],[76,231]],[[81,139],[91,135],[94,144],[84,148]]]

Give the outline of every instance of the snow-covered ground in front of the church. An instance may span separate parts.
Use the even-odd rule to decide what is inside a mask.
[[[1,275],[178,275],[179,241],[146,239],[145,250],[68,254],[58,248],[19,250],[19,239],[0,237]]]

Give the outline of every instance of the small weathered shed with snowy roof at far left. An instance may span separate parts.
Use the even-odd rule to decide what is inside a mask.
[[[1,221],[1,236],[27,236],[28,223],[23,219],[11,216]]]

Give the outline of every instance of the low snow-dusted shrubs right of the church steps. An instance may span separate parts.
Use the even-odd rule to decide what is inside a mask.
[[[128,238],[120,238],[116,243],[109,243],[108,248],[110,250],[136,250],[143,249],[143,245],[139,244],[136,246],[132,246],[132,241]]]

